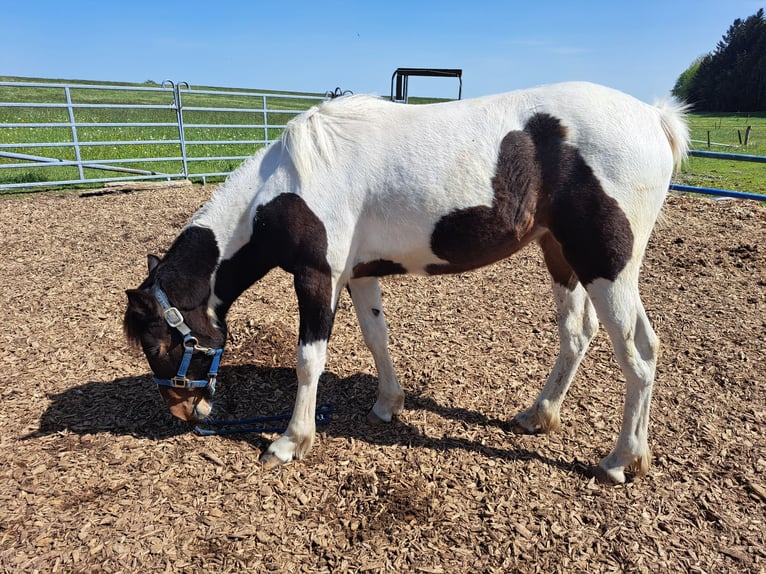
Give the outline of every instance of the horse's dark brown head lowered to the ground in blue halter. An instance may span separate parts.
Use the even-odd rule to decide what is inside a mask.
[[[209,310],[209,280],[176,277],[153,255],[148,263],[148,277],[126,291],[125,334],[141,345],[170,412],[196,422],[212,409],[225,327]]]

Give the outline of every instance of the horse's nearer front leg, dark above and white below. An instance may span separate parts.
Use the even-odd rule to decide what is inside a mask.
[[[295,274],[300,313],[298,391],[287,430],[260,457],[267,469],[303,458],[314,444],[317,386],[327,362],[327,342],[335,316],[332,292],[328,272],[305,269]]]

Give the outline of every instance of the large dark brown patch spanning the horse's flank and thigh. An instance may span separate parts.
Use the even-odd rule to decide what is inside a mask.
[[[630,222],[566,137],[561,121],[544,113],[523,131],[509,132],[498,150],[492,206],[442,217],[431,250],[447,263],[426,271],[459,273],[494,263],[548,228],[553,237],[541,245],[555,281],[573,288],[576,279],[614,280],[633,252]]]

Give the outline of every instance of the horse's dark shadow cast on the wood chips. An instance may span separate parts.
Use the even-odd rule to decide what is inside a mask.
[[[237,419],[257,415],[282,415],[292,410],[297,389],[295,369],[234,365],[219,372],[213,418]],[[457,436],[433,437],[415,425],[395,418],[392,424],[370,425],[368,409],[375,401],[377,379],[357,373],[339,377],[326,371],[319,384],[318,404],[330,404],[333,412],[329,424],[318,428],[329,436],[354,439],[381,446],[408,445],[466,453],[508,461],[537,460],[551,467],[574,472],[586,478],[594,469],[577,461],[553,459],[522,447],[490,446],[478,440]],[[192,432],[192,425],[175,419],[167,410],[151,380],[151,375],[118,378],[108,382],[89,382],[48,397],[50,405],[40,418],[38,430],[25,440],[62,431],[85,434],[112,434],[162,440]],[[406,393],[408,411],[430,411],[463,425],[495,427],[511,434],[509,421],[490,418],[466,408],[445,406],[422,391]],[[286,421],[285,421],[286,424]],[[265,450],[273,436],[264,433],[222,435],[227,440],[246,441]]]

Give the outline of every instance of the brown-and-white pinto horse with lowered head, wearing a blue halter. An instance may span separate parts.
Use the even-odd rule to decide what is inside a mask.
[[[294,276],[298,390],[287,430],[261,455],[300,459],[315,435],[319,376],[346,287],[378,371],[368,418],[404,392],[388,351],[379,278],[460,273],[537,242],[553,280],[560,353],[514,428],[547,433],[605,326],[626,380],[622,428],[596,471],[645,474],[658,340],[639,267],[673,169],[688,149],[683,106],[650,106],[588,83],[410,106],[337,98],[293,119],[233,172],[164,259],[127,291],[125,331],[143,347],[170,411],[211,410],[225,317],[270,269]]]

